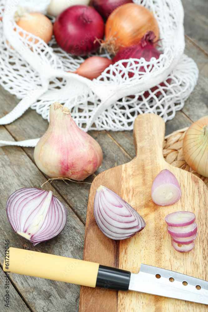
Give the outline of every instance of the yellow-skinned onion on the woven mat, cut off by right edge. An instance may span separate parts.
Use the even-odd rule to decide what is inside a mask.
[[[192,169],[208,177],[208,115],[196,120],[186,131],[183,154]]]

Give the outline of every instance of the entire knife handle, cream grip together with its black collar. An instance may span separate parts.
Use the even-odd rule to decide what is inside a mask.
[[[10,247],[3,263],[5,272],[42,277],[49,280],[128,290],[131,272],[37,251]]]

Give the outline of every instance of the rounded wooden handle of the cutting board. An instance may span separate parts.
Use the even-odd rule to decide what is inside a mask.
[[[146,149],[149,149],[148,154],[155,156],[151,161],[155,163],[165,161],[162,154],[164,136],[165,122],[162,117],[151,113],[138,115],[133,128],[137,161],[143,162],[147,155]]]

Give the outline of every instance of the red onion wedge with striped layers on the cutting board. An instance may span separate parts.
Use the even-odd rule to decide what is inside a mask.
[[[104,235],[115,240],[131,237],[146,225],[133,207],[102,185],[95,193],[94,217]]]

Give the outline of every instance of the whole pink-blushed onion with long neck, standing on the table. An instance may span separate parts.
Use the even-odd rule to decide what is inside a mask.
[[[49,127],[35,147],[34,159],[51,178],[82,181],[100,167],[103,152],[98,142],[75,124],[69,109],[56,102],[50,107]]]

